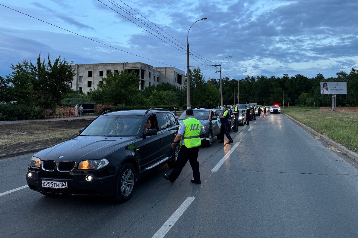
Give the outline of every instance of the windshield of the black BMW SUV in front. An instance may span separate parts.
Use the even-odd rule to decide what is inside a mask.
[[[136,115],[99,116],[80,135],[133,136],[138,134],[143,118]]]

